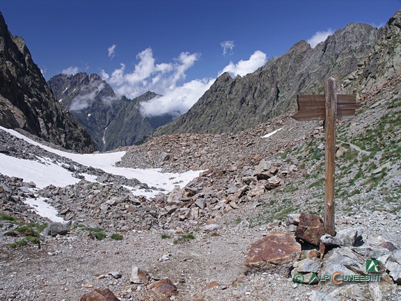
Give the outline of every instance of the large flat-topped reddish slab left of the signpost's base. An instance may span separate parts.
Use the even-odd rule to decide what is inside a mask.
[[[301,255],[301,245],[294,233],[270,233],[265,238],[253,242],[245,265],[250,271],[270,272],[288,277],[292,264]]]

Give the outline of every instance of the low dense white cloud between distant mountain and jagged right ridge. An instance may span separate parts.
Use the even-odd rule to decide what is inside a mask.
[[[215,79],[195,79],[182,86],[165,91],[159,98],[141,102],[143,116],[159,116],[166,113],[180,116],[198,101],[199,98],[212,86]]]

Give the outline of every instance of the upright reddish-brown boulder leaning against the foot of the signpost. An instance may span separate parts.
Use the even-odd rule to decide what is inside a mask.
[[[322,217],[311,215],[309,213],[301,213],[299,215],[299,224],[295,236],[310,242],[313,245],[320,245],[320,238],[324,234]]]

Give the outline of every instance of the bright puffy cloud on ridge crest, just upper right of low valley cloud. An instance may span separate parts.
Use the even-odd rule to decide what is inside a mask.
[[[228,72],[232,77],[236,77],[237,75],[244,76],[255,71],[259,67],[262,67],[262,65],[265,65],[266,61],[266,54],[260,50],[256,50],[247,61],[241,60],[236,64],[230,62],[222,71],[219,72],[219,75],[223,72]]]

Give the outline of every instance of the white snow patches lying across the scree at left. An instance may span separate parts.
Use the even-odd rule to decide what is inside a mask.
[[[162,173],[162,169],[133,169],[126,167],[116,167],[116,162],[121,160],[125,155],[125,151],[115,153],[96,153],[96,154],[77,154],[68,153],[65,151],[58,151],[49,146],[40,144],[24,135],[16,132],[15,130],[6,129],[0,126],[0,130],[4,130],[13,136],[24,139],[29,144],[39,146],[50,153],[66,157],[74,162],[85,165],[87,167],[94,167],[102,169],[107,173],[112,173],[118,176],[125,176],[126,178],[136,178],[142,183],[148,184],[149,187],[157,187],[164,189],[164,193],[171,192],[177,185],[184,187],[191,180],[196,178],[201,171],[187,171],[185,173]],[[72,176],[72,172],[61,167],[61,163],[53,162],[48,157],[38,157],[42,162],[31,160],[19,159],[0,153],[0,173],[6,176],[23,178],[24,182],[34,182],[37,188],[44,188],[48,185],[57,187],[65,187],[79,182],[78,178]],[[81,173],[82,176],[91,182],[96,180],[93,175]],[[159,190],[137,190],[134,187],[125,186],[131,190],[135,195],[143,195],[148,198],[155,196]],[[33,206],[36,212],[44,217],[49,217],[54,221],[60,221],[61,217],[56,216],[56,210],[45,203],[45,199],[26,201]]]

